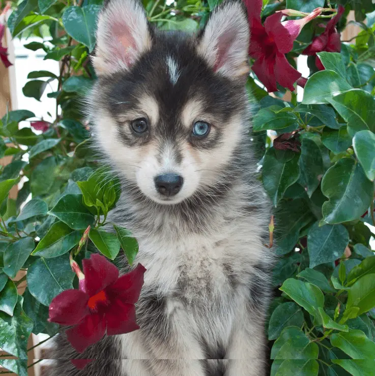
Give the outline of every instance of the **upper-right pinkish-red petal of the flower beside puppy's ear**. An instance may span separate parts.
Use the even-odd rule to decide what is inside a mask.
[[[279,52],[287,53],[292,51],[295,38],[293,38],[288,30],[281,24],[281,17],[282,13],[275,13],[267,17],[264,26],[267,34],[275,43],[275,50],[277,47]]]

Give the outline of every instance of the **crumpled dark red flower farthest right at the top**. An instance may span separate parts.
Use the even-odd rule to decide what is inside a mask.
[[[345,8],[340,5],[337,9],[337,14],[329,20],[326,26],[323,25],[323,27],[325,27],[325,31],[319,37],[315,37],[312,40],[312,43],[302,52],[304,55],[315,56],[315,65],[320,71],[323,71],[324,67],[320,58],[316,56],[316,52],[341,51],[340,34],[337,32],[335,26],[340,20],[344,10]]]

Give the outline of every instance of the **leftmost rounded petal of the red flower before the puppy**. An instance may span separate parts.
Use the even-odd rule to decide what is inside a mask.
[[[49,321],[61,325],[78,324],[89,314],[89,296],[79,290],[65,290],[49,305]]]

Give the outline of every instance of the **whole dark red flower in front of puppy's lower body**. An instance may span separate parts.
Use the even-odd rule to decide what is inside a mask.
[[[124,334],[139,329],[134,303],[146,271],[141,264],[119,278],[118,268],[101,255],[82,261],[83,274],[77,271],[75,261],[71,263],[78,272],[79,289],[63,291],[53,298],[48,320],[73,326],[66,333],[77,352],[82,353],[105,333]]]

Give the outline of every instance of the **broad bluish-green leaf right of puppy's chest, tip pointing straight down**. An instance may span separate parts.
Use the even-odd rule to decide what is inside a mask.
[[[339,259],[349,243],[349,233],[342,225],[319,227],[316,222],[307,235],[310,268]]]

